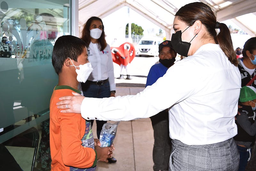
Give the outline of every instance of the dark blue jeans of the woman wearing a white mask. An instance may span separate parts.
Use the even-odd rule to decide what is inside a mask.
[[[91,84],[90,82],[81,83],[82,90],[85,97],[95,97],[95,98],[103,98],[103,97],[110,97],[110,87],[109,82],[103,83],[102,85]],[[93,124],[93,120],[91,120]],[[107,121],[104,120],[96,120],[97,124],[97,137],[100,138],[100,131],[102,126]]]

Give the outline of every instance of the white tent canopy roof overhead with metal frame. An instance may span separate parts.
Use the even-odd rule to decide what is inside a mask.
[[[158,27],[171,38],[172,23],[180,7],[192,2],[209,5],[217,21],[230,19],[252,37],[256,36],[256,0],[79,0],[79,26],[92,16],[104,18],[118,9],[128,6]]]

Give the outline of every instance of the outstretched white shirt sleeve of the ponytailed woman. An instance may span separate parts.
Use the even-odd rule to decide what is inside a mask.
[[[163,77],[137,95],[85,97],[81,103],[82,117],[113,121],[148,118],[200,91],[204,80],[198,73],[202,72],[193,64],[183,65],[180,61],[179,65],[170,67]]]

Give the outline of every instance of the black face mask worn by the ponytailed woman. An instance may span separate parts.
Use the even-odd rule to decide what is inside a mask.
[[[189,26],[190,27],[190,26]],[[185,30],[187,30],[188,28],[186,28]],[[184,31],[185,31],[184,30]],[[183,31],[183,32],[184,32]],[[172,46],[173,46],[173,49],[179,53],[181,56],[185,56],[185,57],[188,57],[188,51],[189,51],[189,48],[190,48],[190,45],[191,45],[191,41],[196,37],[196,35],[193,37],[193,39],[188,43],[188,42],[182,42],[181,40],[181,34],[183,33],[180,31],[177,31],[176,33],[173,33],[172,34],[172,39],[171,39],[171,42],[172,42]]]

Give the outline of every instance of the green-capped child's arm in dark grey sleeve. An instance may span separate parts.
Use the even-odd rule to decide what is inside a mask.
[[[250,135],[255,136],[256,134],[256,123],[253,124],[249,121],[248,116],[245,112],[241,112],[240,115],[236,116],[236,122]]]

